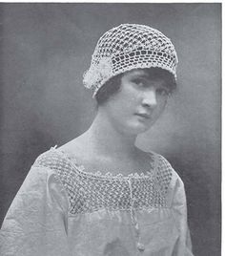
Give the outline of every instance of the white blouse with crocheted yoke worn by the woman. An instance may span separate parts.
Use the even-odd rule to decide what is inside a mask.
[[[2,256],[192,256],[183,182],[155,153],[147,173],[125,177],[51,148],[11,203],[0,246]]]

